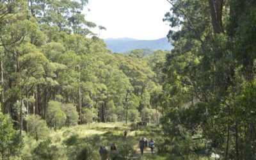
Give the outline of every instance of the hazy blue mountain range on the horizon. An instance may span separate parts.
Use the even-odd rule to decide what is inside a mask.
[[[112,52],[128,52],[132,49],[147,49],[151,51],[170,50],[173,46],[168,42],[168,38],[157,40],[137,40],[134,38],[108,38],[104,42]]]

